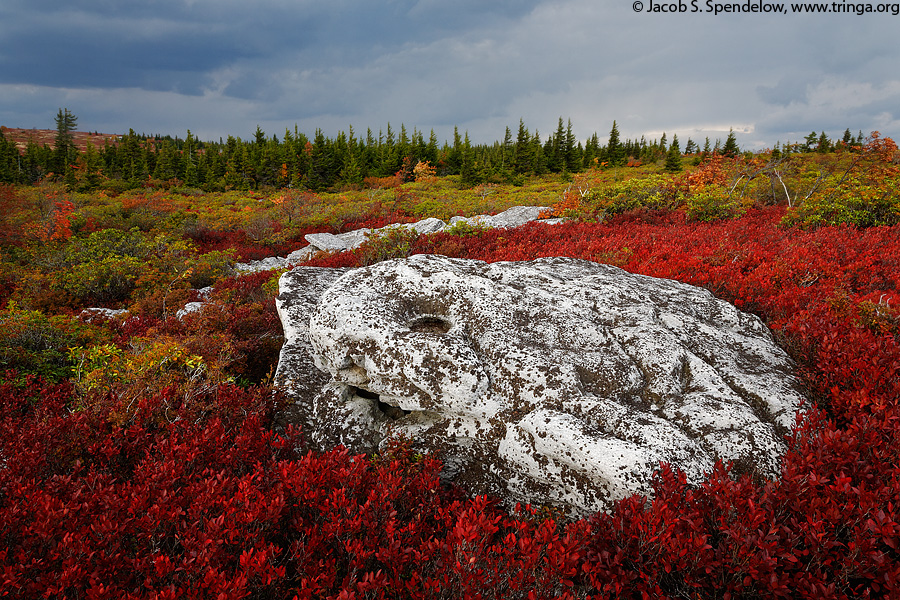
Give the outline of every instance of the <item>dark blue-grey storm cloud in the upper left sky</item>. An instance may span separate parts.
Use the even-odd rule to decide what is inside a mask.
[[[319,68],[528,10],[534,2],[103,2],[9,0],[0,82],[200,93],[240,61],[296,57]],[[238,97],[250,86],[235,84]]]

